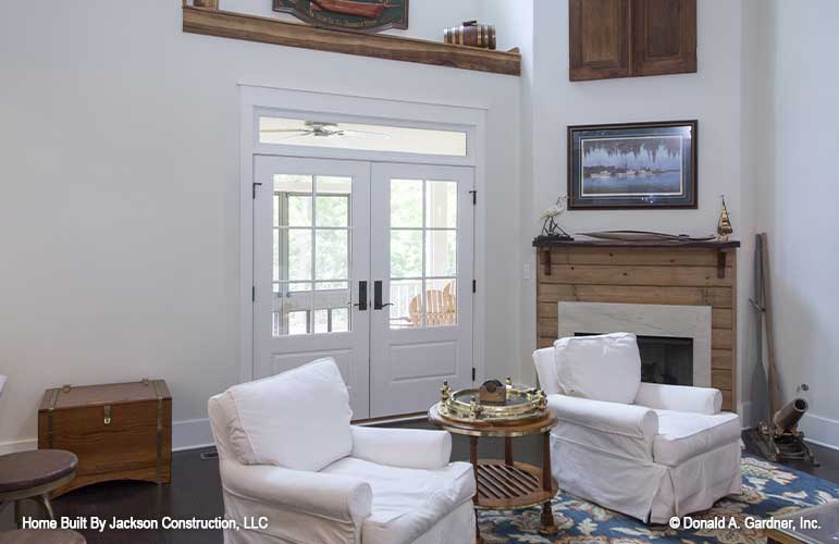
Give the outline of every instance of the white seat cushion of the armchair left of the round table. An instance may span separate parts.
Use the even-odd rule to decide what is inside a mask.
[[[439,470],[390,467],[347,457],[322,473],[346,474],[370,483],[373,503],[361,528],[365,544],[409,544],[474,495],[468,462]],[[454,535],[452,540],[458,539]]]

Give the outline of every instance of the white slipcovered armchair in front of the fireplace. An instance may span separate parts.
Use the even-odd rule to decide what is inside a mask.
[[[740,418],[718,390],[642,383],[633,334],[559,338],[533,360],[560,489],[653,523],[740,492]]]

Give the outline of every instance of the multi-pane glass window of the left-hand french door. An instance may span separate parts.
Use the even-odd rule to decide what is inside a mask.
[[[275,336],[349,331],[351,188],[347,176],[274,176]]]

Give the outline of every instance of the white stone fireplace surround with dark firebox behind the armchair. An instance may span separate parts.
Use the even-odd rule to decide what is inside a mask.
[[[641,380],[711,385],[711,308],[707,306],[559,302],[558,337],[633,333]]]

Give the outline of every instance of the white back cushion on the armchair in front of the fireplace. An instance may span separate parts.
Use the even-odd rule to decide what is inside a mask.
[[[554,343],[556,374],[566,395],[632,404],[641,384],[634,334],[571,336]]]

